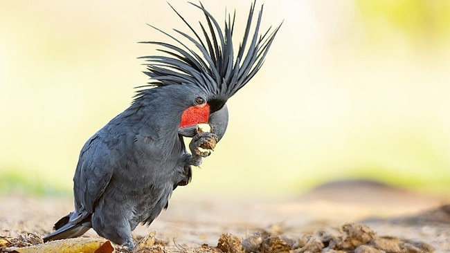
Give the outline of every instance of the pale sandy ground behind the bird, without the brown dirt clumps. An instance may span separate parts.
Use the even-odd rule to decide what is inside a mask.
[[[447,200],[366,181],[334,182],[284,199],[186,199],[174,194],[169,209],[150,227],[138,227],[134,236],[141,238],[156,230],[156,239],[167,242],[165,250],[186,252],[205,244],[217,245],[222,233],[246,238],[265,229],[300,238],[361,222],[380,236],[422,241],[435,252],[450,252]],[[0,203],[0,236],[9,237],[47,234],[53,223],[73,208],[71,198],[0,196]],[[90,230],[86,235],[96,233]]]

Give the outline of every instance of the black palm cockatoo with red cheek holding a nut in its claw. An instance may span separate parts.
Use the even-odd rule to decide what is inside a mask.
[[[187,31],[167,41],[142,41],[159,54],[140,57],[150,81],[138,86],[130,106],[92,135],[80,151],[73,176],[74,210],[57,221],[44,242],[99,236],[133,250],[132,231],[150,225],[168,208],[172,192],[188,185],[228,126],[226,102],[260,71],[280,26],[260,32],[262,12],[251,6],[242,41],[235,47],[236,11],[221,27],[204,5],[189,2],[204,21],[197,30],[170,3]],[[201,131],[199,124],[209,124]],[[192,138],[186,149],[183,138]]]

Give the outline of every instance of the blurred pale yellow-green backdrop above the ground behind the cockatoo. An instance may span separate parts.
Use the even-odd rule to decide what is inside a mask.
[[[192,22],[203,18],[170,1]],[[262,1],[258,1],[258,4]],[[250,1],[204,1],[221,20]],[[328,180],[450,186],[450,1],[265,0],[284,24],[228,102],[228,131],[177,194],[298,194]],[[166,1],[0,1],[0,192],[71,195],[84,142],[183,28]],[[237,29],[242,32],[242,28]]]

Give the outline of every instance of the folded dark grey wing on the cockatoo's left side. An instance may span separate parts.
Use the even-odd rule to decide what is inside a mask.
[[[101,133],[96,133],[84,144],[73,177],[73,195],[78,211],[93,213],[96,201],[102,196],[117,166],[117,156],[113,152]]]

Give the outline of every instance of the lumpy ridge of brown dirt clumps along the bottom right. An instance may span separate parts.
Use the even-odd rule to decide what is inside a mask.
[[[267,237],[262,237],[267,236]],[[412,242],[394,236],[377,236],[361,223],[346,223],[339,228],[318,230],[300,238],[286,238],[258,232],[242,241],[245,252],[433,252],[423,242]]]

